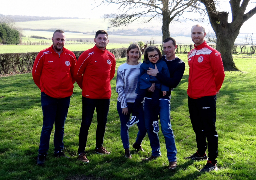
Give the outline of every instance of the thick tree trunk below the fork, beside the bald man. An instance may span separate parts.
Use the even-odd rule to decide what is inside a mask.
[[[224,70],[237,71],[238,68],[233,61],[232,52],[234,48],[234,42],[238,33],[232,32],[230,26],[219,26],[215,33],[217,37],[216,49],[221,53]]]

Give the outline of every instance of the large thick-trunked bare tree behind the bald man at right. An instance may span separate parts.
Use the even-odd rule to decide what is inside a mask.
[[[250,0],[230,0],[232,22],[229,23],[228,12],[219,12],[216,10],[216,3],[218,3],[218,1],[200,1],[206,7],[211,26],[216,34],[216,48],[221,53],[224,69],[226,71],[238,70],[232,57],[234,42],[244,22],[256,13],[256,7],[246,11]]]

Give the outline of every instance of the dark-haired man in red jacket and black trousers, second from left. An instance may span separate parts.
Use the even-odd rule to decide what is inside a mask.
[[[111,97],[110,81],[115,75],[116,60],[106,49],[108,34],[99,30],[95,35],[95,46],[83,52],[77,62],[75,78],[82,89],[82,123],[79,134],[78,160],[88,163],[85,154],[88,130],[94,110],[97,112],[96,148],[99,154],[109,154],[103,147],[107,115]]]

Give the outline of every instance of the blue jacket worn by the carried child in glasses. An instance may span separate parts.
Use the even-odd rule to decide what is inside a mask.
[[[166,77],[170,77],[170,73],[166,63],[159,59],[156,63],[157,69],[159,73],[163,74]],[[155,83],[156,88],[161,89],[161,91],[169,91],[169,87],[161,84],[158,79],[154,76],[150,76],[147,74],[147,70],[149,68],[155,69],[154,63],[145,63],[143,62],[140,66],[140,75],[137,88],[139,89],[148,89],[151,87],[152,83]]]

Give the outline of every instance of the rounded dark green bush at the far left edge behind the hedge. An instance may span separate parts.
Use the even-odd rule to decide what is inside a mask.
[[[0,23],[0,44],[19,44],[20,32],[7,23]]]

